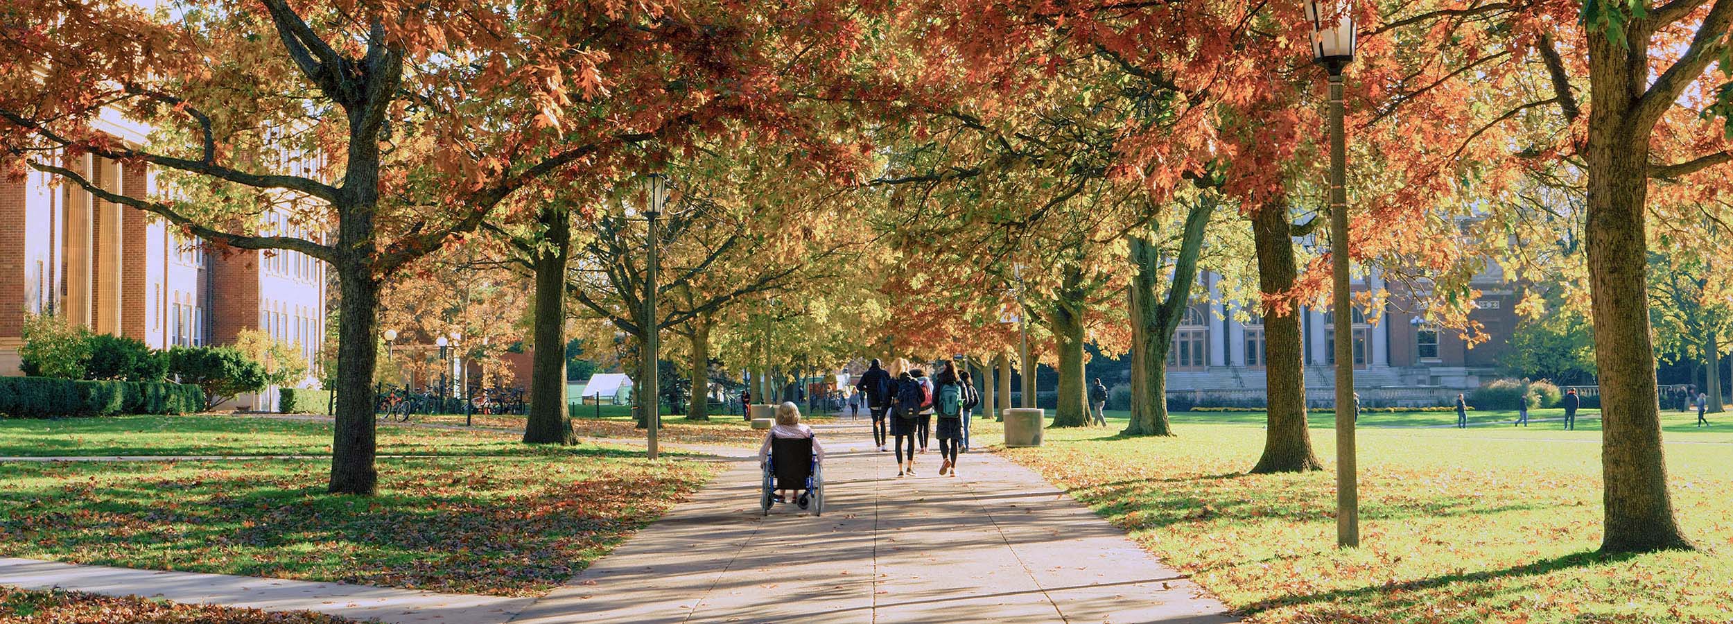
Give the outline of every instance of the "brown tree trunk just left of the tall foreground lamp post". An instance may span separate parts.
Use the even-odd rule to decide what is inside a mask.
[[[1295,286],[1295,246],[1289,234],[1288,206],[1265,205],[1251,215],[1253,244],[1258,251],[1258,293],[1265,300],[1286,295]],[[1305,366],[1300,362],[1300,314],[1288,307],[1263,315],[1263,383],[1267,432],[1263,456],[1253,473],[1324,470],[1312,454],[1312,433],[1305,416]]]

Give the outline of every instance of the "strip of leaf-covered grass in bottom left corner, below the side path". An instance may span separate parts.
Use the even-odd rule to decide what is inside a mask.
[[[180,605],[140,596],[0,588],[5,624],[341,624],[352,619],[314,612],[263,612],[215,605]]]

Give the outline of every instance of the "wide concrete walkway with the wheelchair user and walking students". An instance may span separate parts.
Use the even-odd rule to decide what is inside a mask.
[[[742,458],[513,622],[1234,622],[1227,608],[1033,471],[896,477],[865,425],[820,430],[825,515],[763,517]]]

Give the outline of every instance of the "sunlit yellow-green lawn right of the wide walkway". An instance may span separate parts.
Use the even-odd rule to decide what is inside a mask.
[[[1492,419],[1509,416],[1482,413]],[[1594,421],[1362,428],[1362,548],[1334,548],[1334,471],[1246,475],[1263,414],[1175,414],[1178,437],[1047,430],[1003,449],[1126,529],[1253,622],[1728,622],[1733,619],[1733,426],[1665,414],[1674,506],[1695,553],[1603,558]],[[1331,414],[1315,418],[1327,426]],[[1431,423],[1454,413],[1362,414]],[[1537,411],[1530,418],[1549,416]],[[1716,419],[1710,416],[1710,419]],[[1733,418],[1723,418],[1733,419]],[[1000,426],[976,421],[976,444]],[[1334,465],[1327,430],[1312,444]]]

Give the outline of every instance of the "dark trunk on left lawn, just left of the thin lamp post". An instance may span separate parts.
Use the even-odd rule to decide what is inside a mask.
[[[523,444],[572,444],[572,414],[565,406],[565,267],[572,224],[565,206],[549,203],[537,220],[548,246],[535,250],[535,355],[530,367],[530,414]]]

